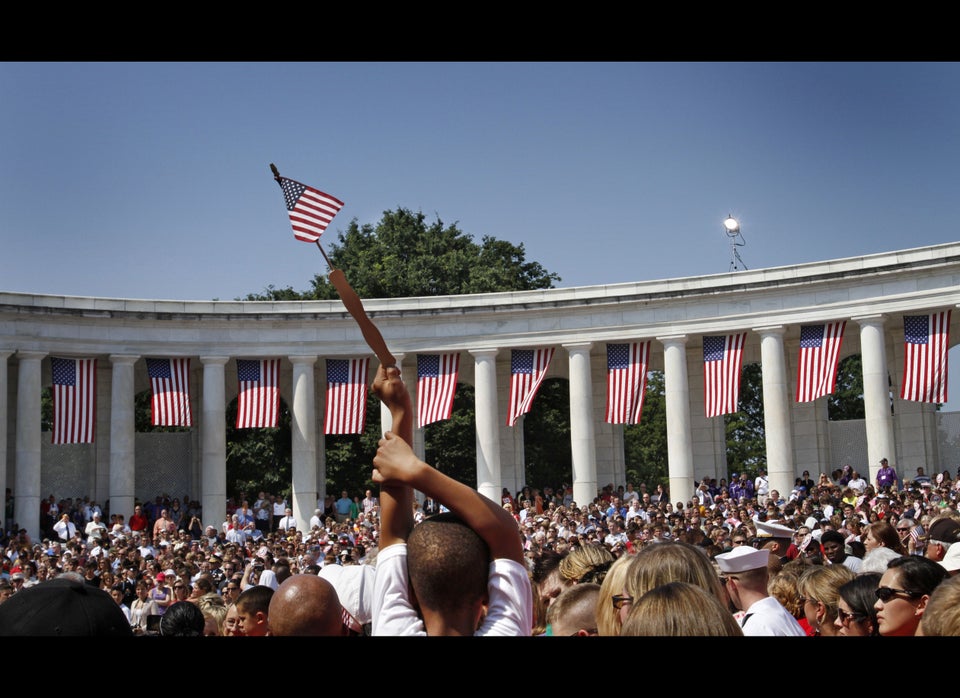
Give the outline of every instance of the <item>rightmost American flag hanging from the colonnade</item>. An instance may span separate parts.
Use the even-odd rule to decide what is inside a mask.
[[[950,313],[943,310],[930,315],[904,315],[901,399],[947,401]]]

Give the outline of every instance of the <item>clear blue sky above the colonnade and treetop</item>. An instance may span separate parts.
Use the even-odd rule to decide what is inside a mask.
[[[305,290],[270,163],[561,287],[888,252],[960,237],[960,63],[0,63],[0,290]]]

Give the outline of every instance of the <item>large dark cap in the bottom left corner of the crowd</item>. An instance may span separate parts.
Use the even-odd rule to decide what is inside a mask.
[[[109,593],[67,577],[27,587],[0,604],[0,637],[132,635]]]

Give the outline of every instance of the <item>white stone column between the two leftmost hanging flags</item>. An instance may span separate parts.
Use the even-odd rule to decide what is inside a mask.
[[[111,354],[110,512],[129,521],[136,498],[136,436],[133,365],[139,356]],[[105,522],[107,523],[107,522]]]

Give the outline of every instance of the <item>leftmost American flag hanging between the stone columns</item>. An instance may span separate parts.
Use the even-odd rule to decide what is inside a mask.
[[[51,357],[53,443],[93,443],[97,418],[97,360]]]

